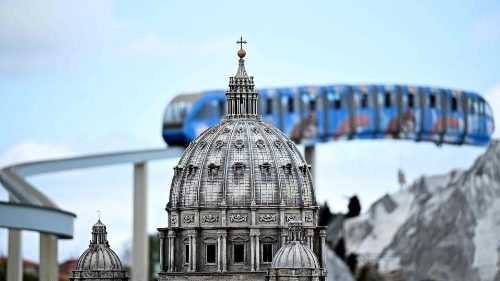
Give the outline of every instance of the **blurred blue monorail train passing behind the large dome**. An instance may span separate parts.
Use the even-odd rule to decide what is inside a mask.
[[[400,85],[260,89],[259,113],[297,143],[397,138],[485,145],[494,130],[478,94]],[[168,105],[163,139],[187,146],[225,114],[225,91],[179,95]]]

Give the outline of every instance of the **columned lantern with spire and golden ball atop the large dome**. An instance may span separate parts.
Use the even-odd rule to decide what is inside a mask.
[[[255,91],[253,76],[248,76],[245,69],[246,51],[243,44],[247,42],[243,37],[236,42],[240,44],[238,50],[238,71],[236,75],[229,78],[229,90],[226,92],[227,115],[224,119],[250,118],[260,119],[257,113],[257,100],[259,94]]]

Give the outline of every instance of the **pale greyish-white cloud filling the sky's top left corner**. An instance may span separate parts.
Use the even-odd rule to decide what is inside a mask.
[[[2,1],[0,73],[22,75],[74,65],[115,28],[110,0]]]

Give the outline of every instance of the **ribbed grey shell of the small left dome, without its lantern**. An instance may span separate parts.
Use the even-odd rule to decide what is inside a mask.
[[[76,270],[122,270],[116,253],[105,244],[91,244],[78,260]]]

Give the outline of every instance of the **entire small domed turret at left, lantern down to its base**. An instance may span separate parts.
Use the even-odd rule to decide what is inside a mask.
[[[116,253],[109,247],[106,225],[99,219],[92,227],[89,248],[78,259],[70,281],[128,281]]]

